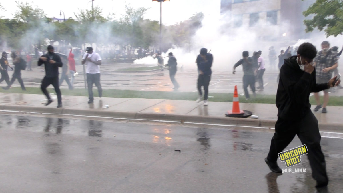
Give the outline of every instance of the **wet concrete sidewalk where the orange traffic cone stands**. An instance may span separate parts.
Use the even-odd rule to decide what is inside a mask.
[[[260,127],[274,127],[277,118],[275,104],[239,103],[241,110],[259,116],[254,119],[226,117],[226,111],[232,109],[231,102],[209,101],[209,105],[204,106],[202,102],[195,101],[102,97],[88,104],[86,96],[62,96],[63,108],[57,108],[56,95],[52,94],[52,99],[54,102],[45,106],[46,98],[43,94],[0,93],[0,110]],[[103,105],[109,107],[102,108]],[[343,107],[328,106],[327,110],[328,113],[314,112],[320,129],[342,130]]]

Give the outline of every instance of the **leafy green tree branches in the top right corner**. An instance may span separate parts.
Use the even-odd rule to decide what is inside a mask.
[[[317,0],[306,11],[304,16],[314,15],[310,20],[304,20],[306,32],[315,28],[324,30],[327,37],[343,33],[343,1],[342,0]]]

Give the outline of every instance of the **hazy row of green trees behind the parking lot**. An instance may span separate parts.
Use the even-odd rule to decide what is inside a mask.
[[[109,47],[120,45],[134,48],[159,44],[159,21],[144,19],[147,8],[126,5],[126,12],[115,18],[115,13],[104,15],[102,9],[80,9],[74,13],[76,19],[53,22],[44,11],[33,3],[17,3],[14,19],[0,18],[0,48],[33,50],[45,46],[46,39],[58,41],[60,45],[81,47],[84,43],[96,43]],[[0,10],[3,9],[0,5]],[[157,13],[156,13],[157,14]],[[191,36],[201,27],[202,13],[173,26],[162,25],[163,45],[183,46],[189,44]]]

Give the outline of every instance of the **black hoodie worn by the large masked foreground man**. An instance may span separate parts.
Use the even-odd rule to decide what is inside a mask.
[[[275,103],[277,116],[284,120],[300,120],[310,110],[310,93],[329,88],[328,84],[316,83],[316,69],[311,74],[300,70],[296,58],[285,59],[280,69]]]

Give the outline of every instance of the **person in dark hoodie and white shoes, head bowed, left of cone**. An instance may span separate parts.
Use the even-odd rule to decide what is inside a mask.
[[[204,105],[208,105],[208,94],[209,94],[209,84],[211,80],[211,74],[212,74],[212,62],[213,62],[213,56],[210,53],[207,53],[206,48],[200,49],[200,54],[198,55],[196,59],[196,63],[198,66],[198,91],[199,91],[199,97],[197,99],[197,103],[201,101],[202,92],[201,92],[201,86],[204,87]]]

